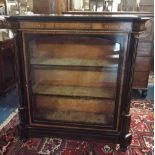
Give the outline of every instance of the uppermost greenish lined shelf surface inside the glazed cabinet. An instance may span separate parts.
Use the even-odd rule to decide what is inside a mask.
[[[74,58],[33,58],[32,65],[55,65],[55,66],[85,66],[85,67],[118,67],[119,58],[104,60],[74,59]]]

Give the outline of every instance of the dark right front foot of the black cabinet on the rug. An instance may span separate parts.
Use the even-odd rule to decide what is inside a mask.
[[[124,135],[121,138],[120,149],[125,152],[127,150],[128,145],[131,144],[132,135],[130,133]]]

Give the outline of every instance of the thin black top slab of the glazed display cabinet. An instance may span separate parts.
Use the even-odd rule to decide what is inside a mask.
[[[8,20],[14,21],[146,21],[149,17],[141,17],[138,15],[20,15],[7,16]]]

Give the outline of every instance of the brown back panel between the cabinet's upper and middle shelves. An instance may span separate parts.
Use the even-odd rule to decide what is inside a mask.
[[[116,86],[117,69],[98,71],[66,69],[33,69],[33,83],[45,85],[81,86],[81,87],[112,87]]]

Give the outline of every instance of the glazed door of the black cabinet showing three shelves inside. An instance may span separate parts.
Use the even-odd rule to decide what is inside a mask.
[[[23,36],[32,125],[118,127],[127,36]]]

